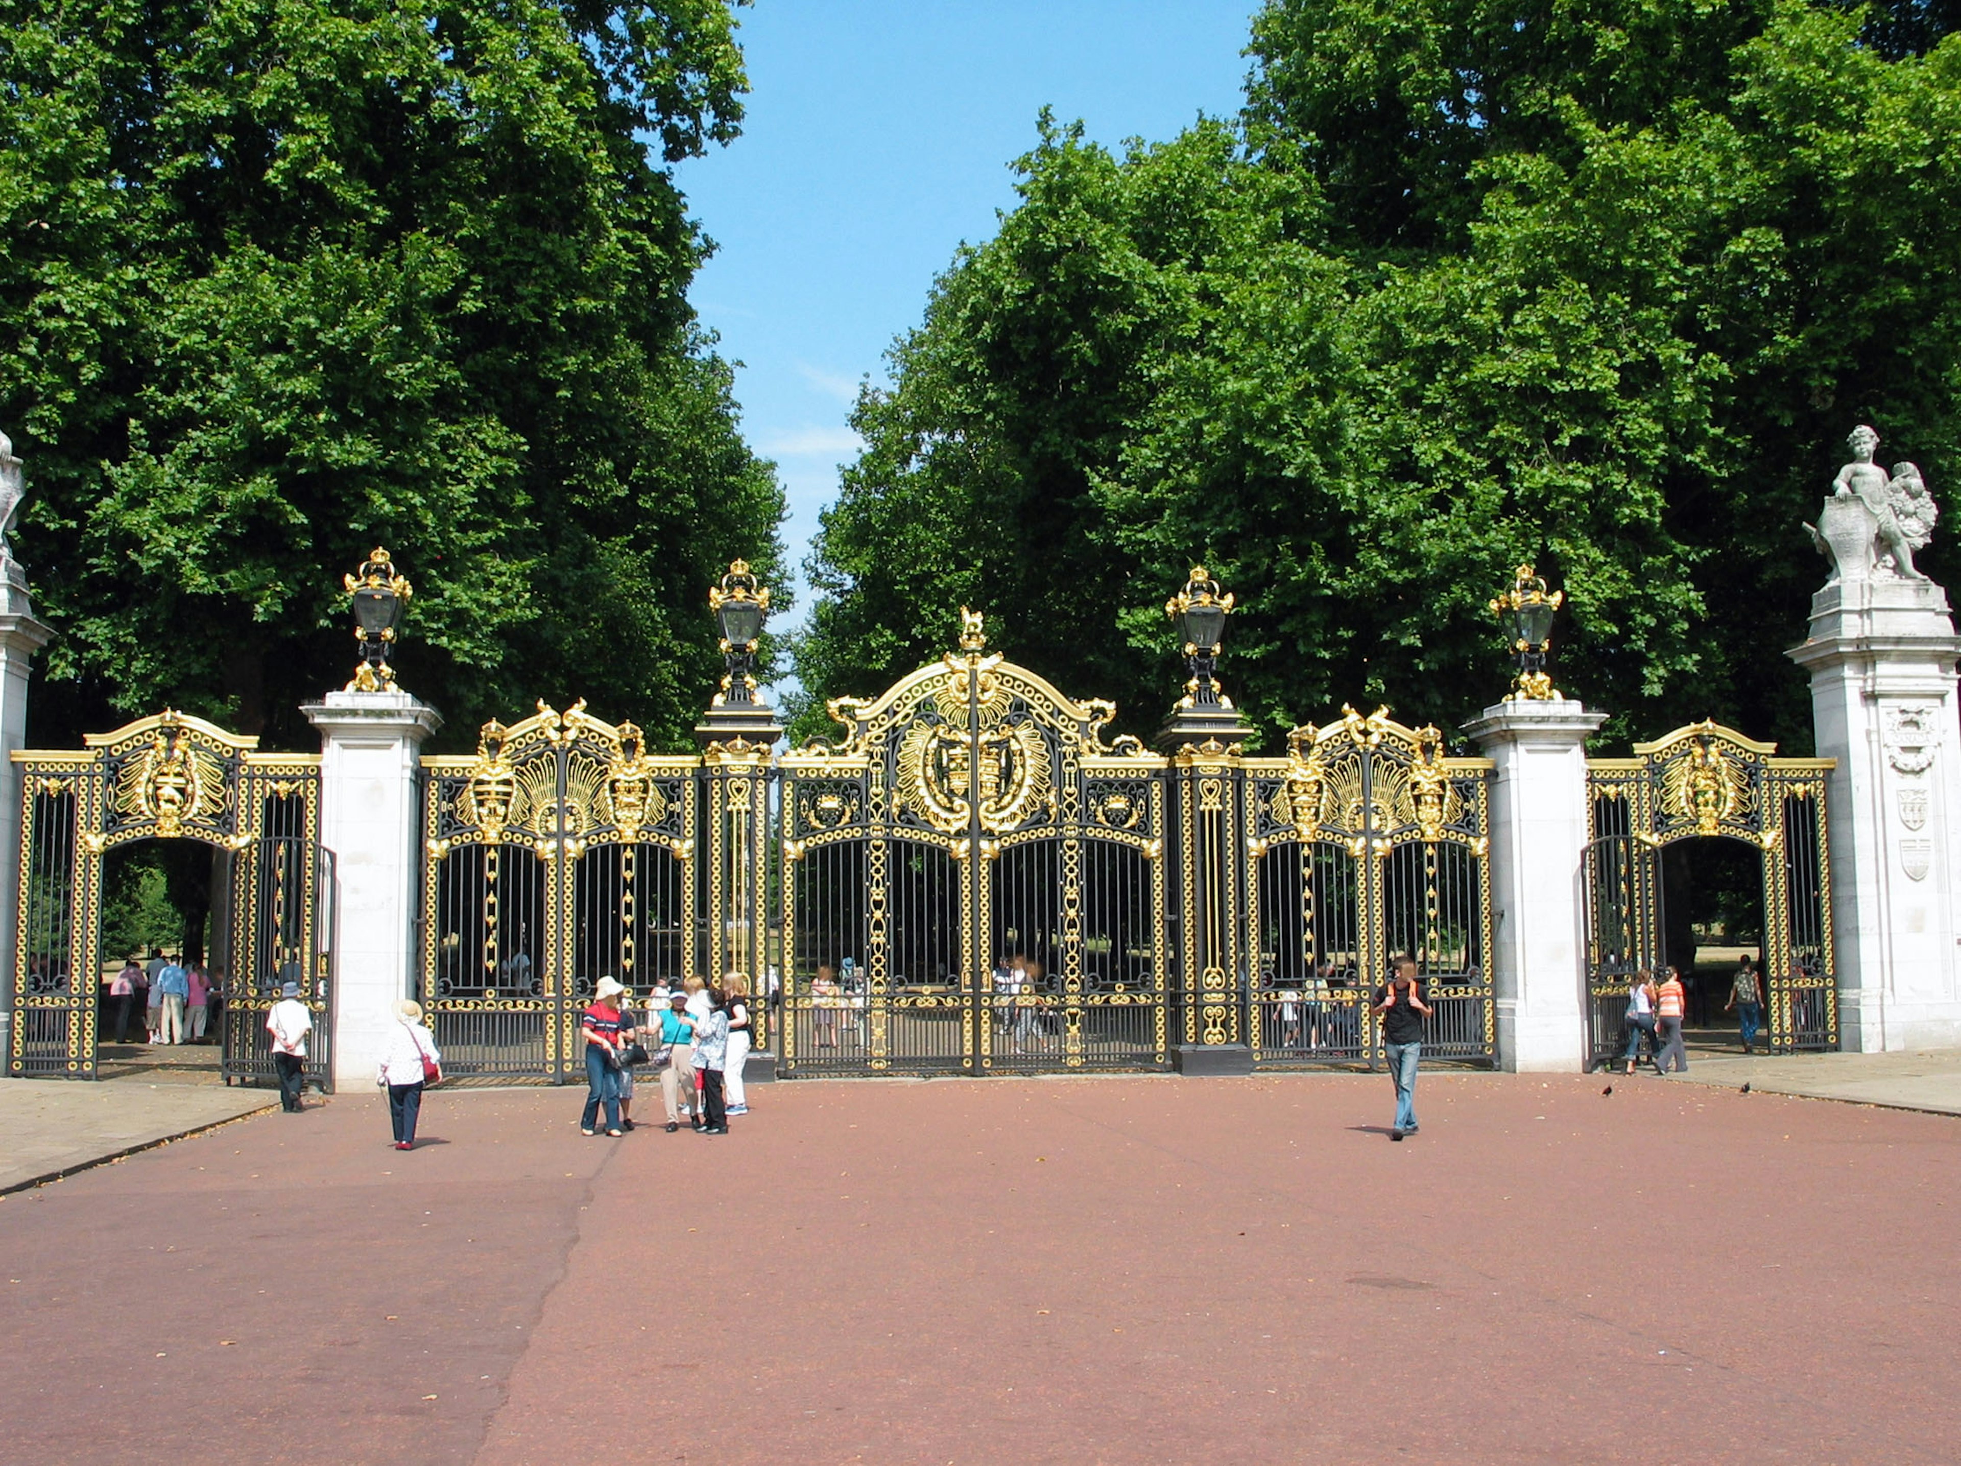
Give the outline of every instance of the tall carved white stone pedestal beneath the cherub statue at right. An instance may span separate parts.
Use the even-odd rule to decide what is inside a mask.
[[[1812,675],[1818,756],[1837,759],[1828,834],[1841,1046],[1961,1048],[1961,638],[1947,595],[1932,581],[1832,583],[1788,655]]]

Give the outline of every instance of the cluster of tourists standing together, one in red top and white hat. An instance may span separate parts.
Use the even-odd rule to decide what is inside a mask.
[[[580,1134],[620,1136],[633,1128],[635,1073],[655,1073],[667,1132],[682,1123],[696,1134],[728,1134],[731,1115],[749,1113],[743,1064],[751,1044],[749,983],[739,971],[720,981],[657,981],[643,1009],[616,977],[600,977],[578,1022],[586,1052],[586,1107]]]

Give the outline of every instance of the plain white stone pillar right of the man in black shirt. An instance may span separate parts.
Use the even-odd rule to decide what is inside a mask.
[[[1465,724],[1492,763],[1490,897],[1498,1064],[1583,1072],[1588,1060],[1586,736],[1606,722],[1571,699],[1500,703]]]

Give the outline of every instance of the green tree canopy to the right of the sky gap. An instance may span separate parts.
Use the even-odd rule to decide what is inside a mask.
[[[1122,155],[1043,118],[863,393],[798,669],[873,693],[982,606],[1149,730],[1163,601],[1243,610],[1269,734],[1496,701],[1534,561],[1608,738],[1810,746],[1802,520],[1873,422],[1957,455],[1961,41],[1939,6],[1269,0],[1247,110]],[[1924,565],[1957,561],[1936,540]]]

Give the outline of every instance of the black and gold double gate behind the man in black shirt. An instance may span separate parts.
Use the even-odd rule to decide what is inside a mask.
[[[1245,759],[1247,1042],[1263,1066],[1373,1062],[1371,995],[1416,960],[1424,1056],[1492,1062],[1490,761],[1384,710]]]

